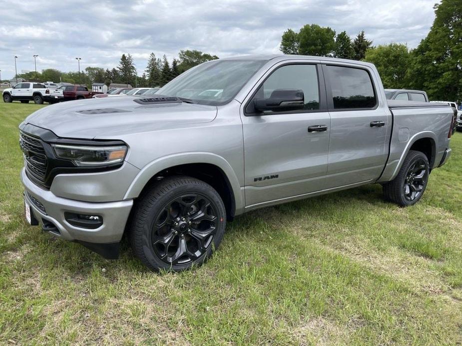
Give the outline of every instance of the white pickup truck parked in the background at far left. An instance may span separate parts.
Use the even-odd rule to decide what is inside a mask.
[[[48,89],[42,83],[18,83],[12,88],[3,90],[3,102],[13,102],[14,100],[21,103],[33,101],[41,105],[43,101],[56,103],[63,100],[62,90]]]

